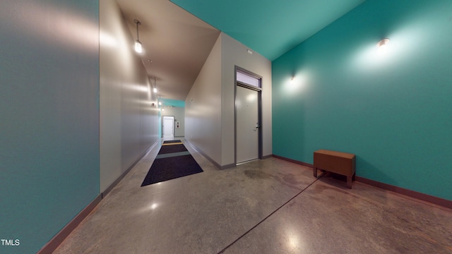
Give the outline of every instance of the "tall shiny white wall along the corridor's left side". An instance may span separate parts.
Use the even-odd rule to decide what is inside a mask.
[[[100,191],[158,138],[157,102],[115,1],[100,1]]]

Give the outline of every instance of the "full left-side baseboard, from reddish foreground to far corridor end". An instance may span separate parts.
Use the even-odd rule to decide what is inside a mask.
[[[88,217],[88,214],[90,214],[91,211],[94,210],[94,208],[97,206],[97,204],[99,204],[100,200],[102,200],[103,198],[105,198],[105,196],[112,191],[112,189],[114,188],[114,186],[117,186],[117,184],[119,183],[119,181],[121,181],[124,176],[126,176],[127,173],[129,173],[129,171],[131,171],[131,169],[133,169],[133,167],[135,167],[135,165],[141,160],[143,159],[143,157],[145,157],[145,155],[148,154],[148,152],[150,150],[153,149],[153,147],[155,147],[155,145],[157,145],[158,141],[155,142],[153,145],[151,145],[148,150],[146,150],[145,152],[143,152],[138,159],[136,160],[136,162],[134,162],[126,171],[124,171],[123,174],[121,174],[121,176],[119,176],[116,181],[114,181],[112,184],[110,184],[110,186],[108,186],[108,188],[105,189],[105,191],[103,191],[102,193],[100,193],[99,195],[97,195],[97,197],[90,202],[89,205],[87,205],[85,208],[83,208],[83,210],[81,212],[79,212],[76,217],[74,217],[71,222],[69,222],[68,224],[66,224],[66,226],[64,226],[63,229],[61,229],[57,235],[55,235],[48,243],[46,243],[46,245],[44,245],[44,247],[42,247],[37,254],[47,254],[47,253],[52,253],[54,250],[56,250],[58,248],[58,246],[60,246],[60,244],[64,241],[64,239],[66,239],[66,237],[69,236],[69,234],[71,234],[71,232],[76,229],[76,227],[78,226],[78,224],[80,224],[83,219],[85,219],[86,217]]]

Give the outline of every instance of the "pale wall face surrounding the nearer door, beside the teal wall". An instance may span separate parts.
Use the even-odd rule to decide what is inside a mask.
[[[235,155],[235,66],[262,77],[262,146],[263,156],[272,154],[271,62],[260,54],[246,52],[249,47],[221,33],[222,38],[222,161],[234,164]]]

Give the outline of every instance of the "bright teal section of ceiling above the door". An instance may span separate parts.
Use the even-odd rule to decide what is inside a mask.
[[[364,0],[171,0],[270,61]]]

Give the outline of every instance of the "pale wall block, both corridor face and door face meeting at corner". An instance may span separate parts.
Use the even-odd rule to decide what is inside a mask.
[[[272,154],[271,62],[220,34],[186,97],[185,138],[220,166],[234,164],[235,66],[262,76],[263,155]]]

